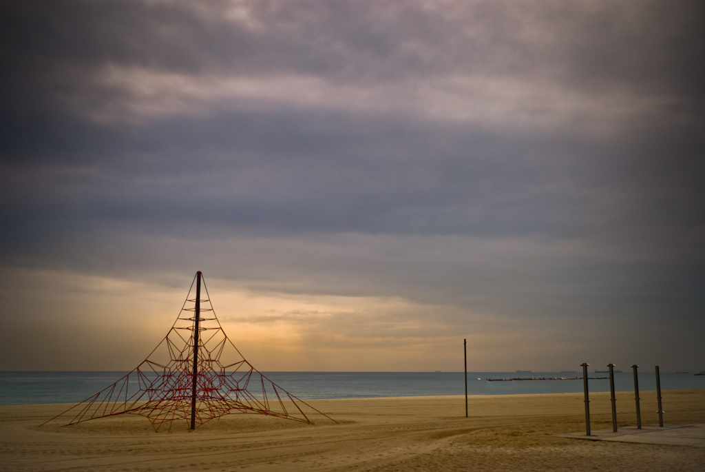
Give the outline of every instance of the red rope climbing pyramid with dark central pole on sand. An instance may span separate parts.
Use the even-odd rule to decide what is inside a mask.
[[[195,294],[194,292],[195,285]],[[202,298],[201,285],[205,289]],[[259,373],[226,336],[201,272],[176,322],[137,368],[92,397],[47,420],[66,425],[122,414],[145,416],[154,431],[185,420],[190,430],[234,413],[257,413],[313,424],[325,413]]]

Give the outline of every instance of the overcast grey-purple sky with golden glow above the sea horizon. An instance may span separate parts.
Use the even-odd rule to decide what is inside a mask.
[[[701,1],[0,10],[0,370],[705,370]]]

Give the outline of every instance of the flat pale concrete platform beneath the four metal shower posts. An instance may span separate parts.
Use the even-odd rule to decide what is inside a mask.
[[[560,437],[572,437],[577,440],[589,441],[619,441],[640,442],[642,444],[669,444],[673,446],[705,447],[705,425],[655,425],[626,426],[613,430],[591,431],[586,436],[584,432],[570,432]]]

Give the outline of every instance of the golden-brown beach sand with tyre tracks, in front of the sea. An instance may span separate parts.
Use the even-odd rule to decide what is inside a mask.
[[[642,423],[658,424],[655,392]],[[592,430],[611,429],[608,393],[591,394]],[[635,425],[632,392],[618,425]],[[171,433],[140,416],[39,427],[66,405],[0,406],[0,471],[703,471],[705,447],[556,437],[585,430],[582,394],[311,400],[315,425],[232,415]],[[664,422],[705,423],[705,389],[663,392]]]

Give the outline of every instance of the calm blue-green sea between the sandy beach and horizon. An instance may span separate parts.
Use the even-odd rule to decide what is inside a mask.
[[[0,372],[0,405],[78,403],[121,379],[127,372]],[[465,394],[462,372],[263,372],[300,399],[353,399]],[[632,372],[615,373],[615,390],[634,390]],[[580,377],[577,380],[508,380],[527,377]],[[608,377],[589,373],[589,377]],[[705,375],[661,373],[661,390],[705,388]],[[588,381],[590,392],[609,392],[608,379]],[[654,372],[639,372],[639,390],[656,390]],[[472,372],[469,395],[582,392],[582,373]]]

